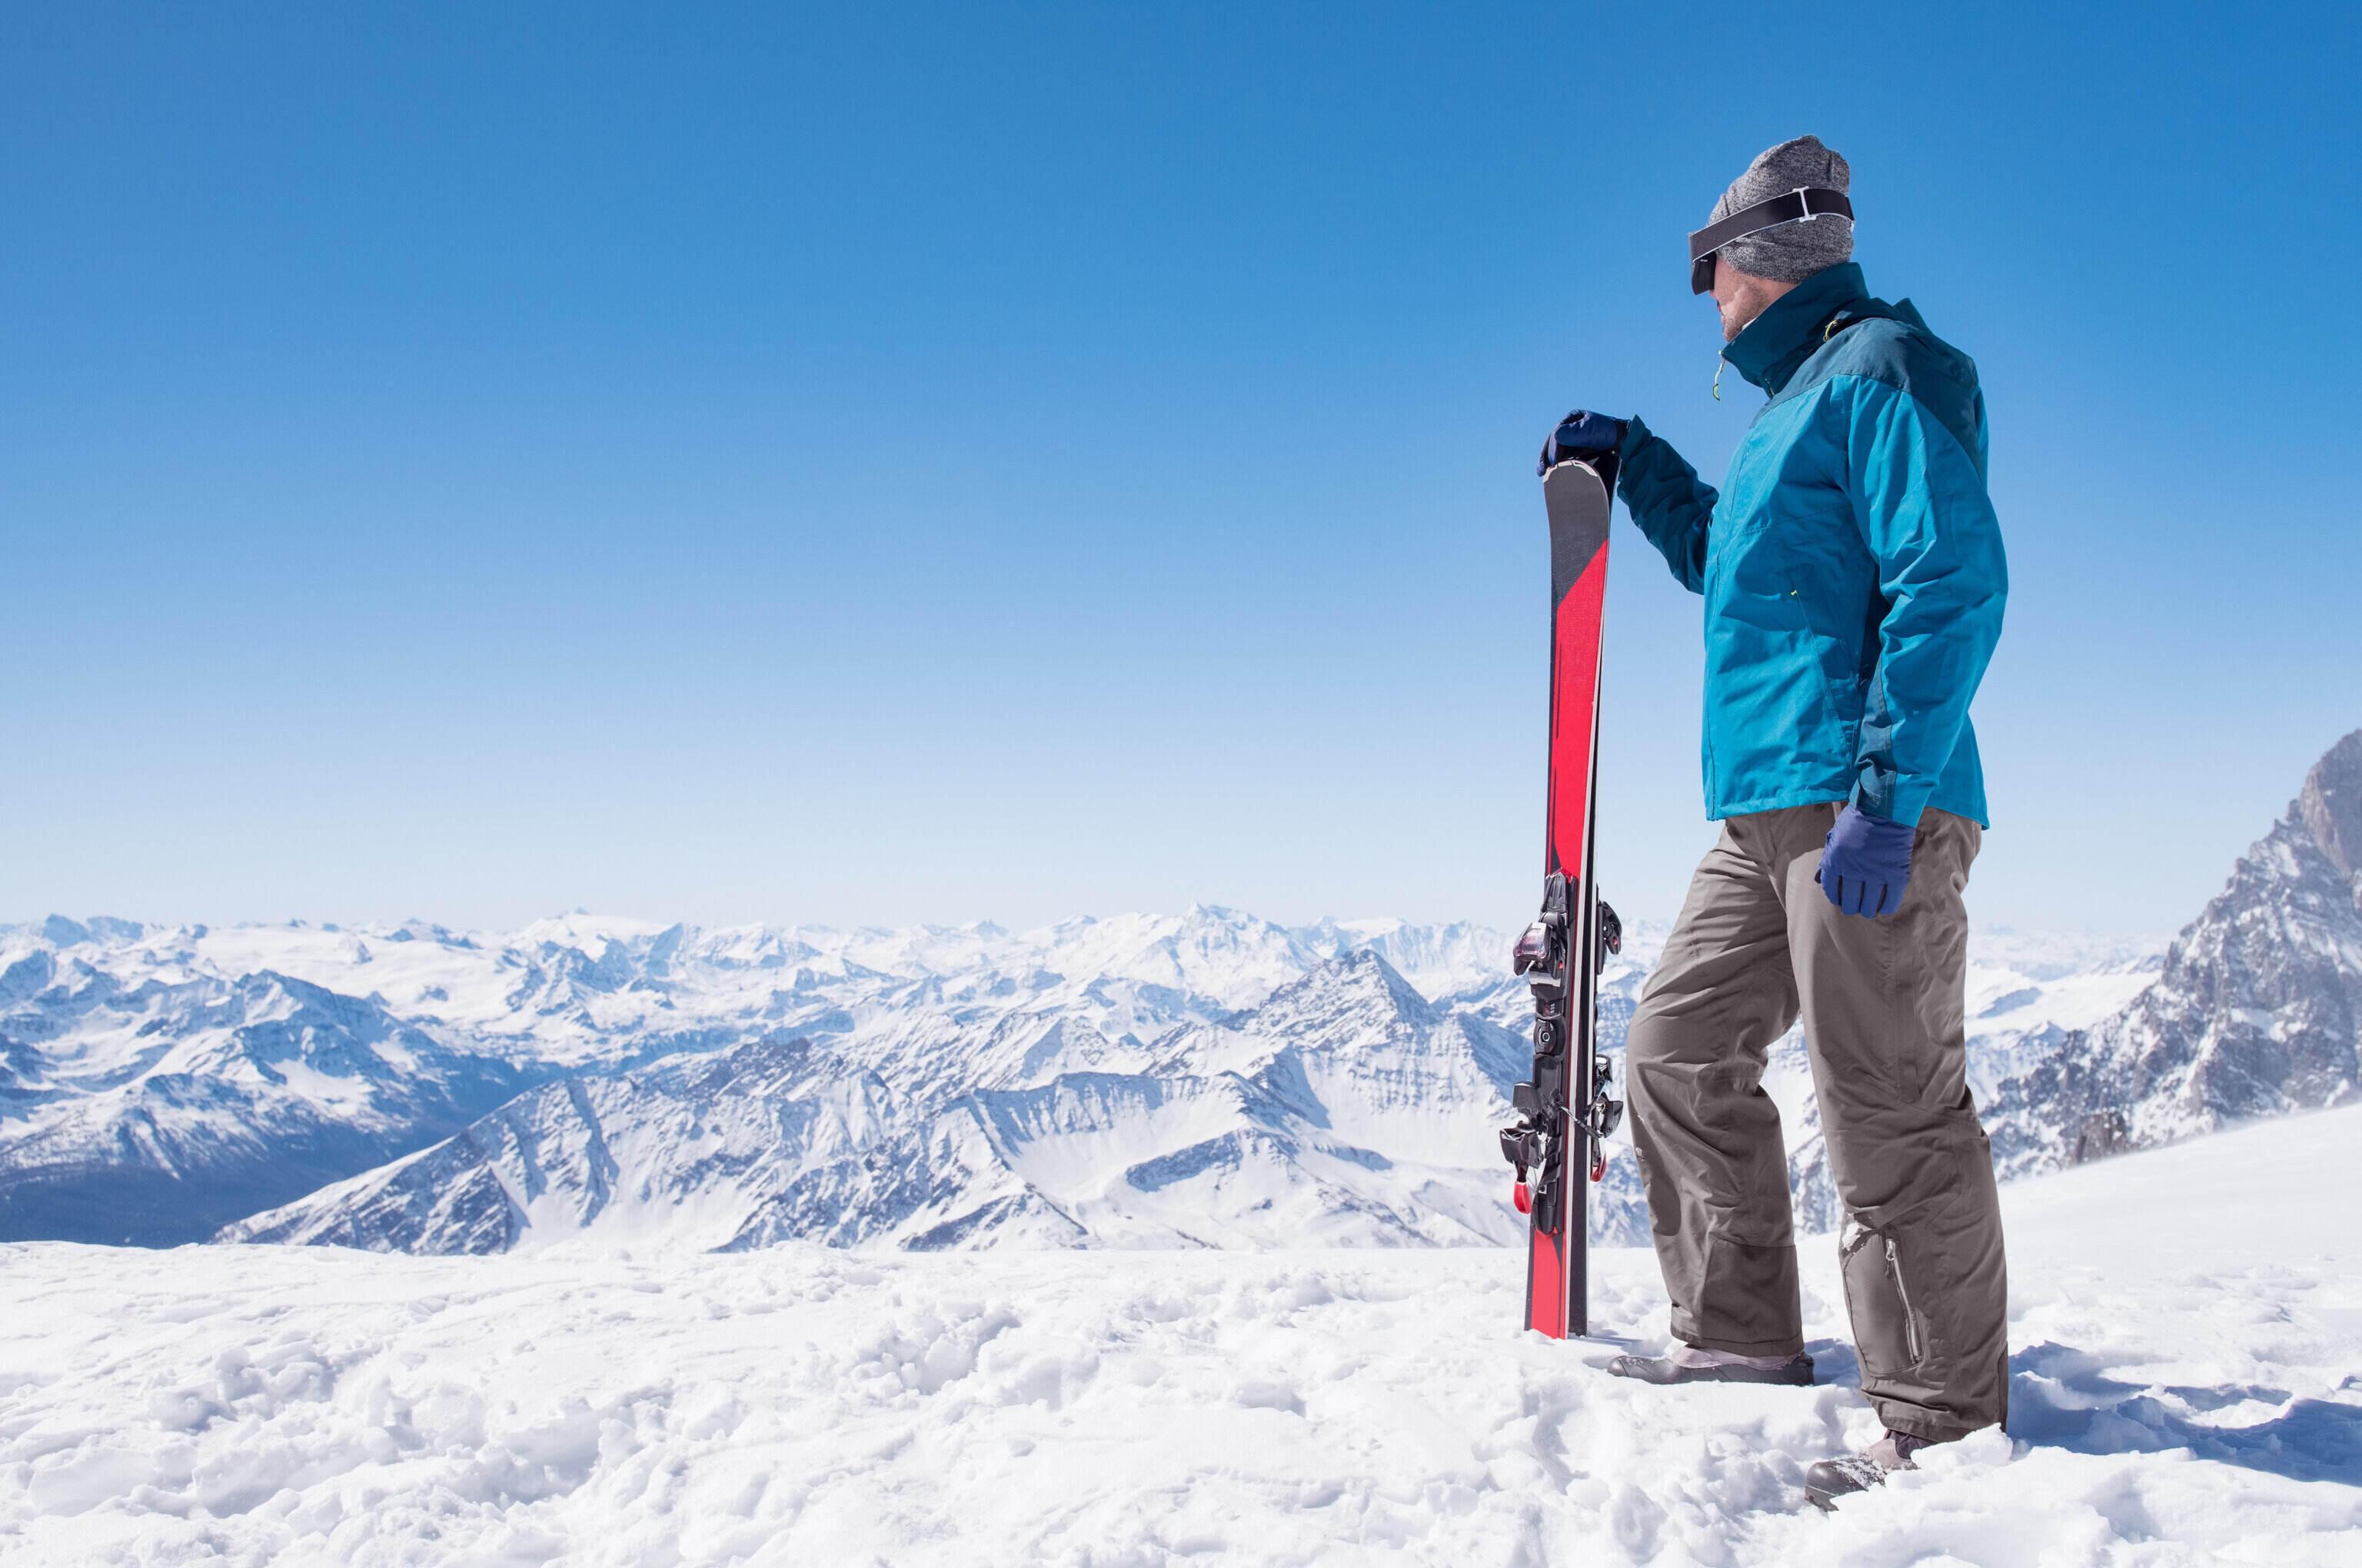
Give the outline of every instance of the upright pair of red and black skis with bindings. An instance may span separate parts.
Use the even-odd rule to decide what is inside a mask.
[[[1606,1169],[1601,1138],[1623,1119],[1597,1051],[1599,971],[1623,947],[1599,902],[1592,850],[1599,824],[1599,623],[1609,574],[1616,458],[1542,449],[1549,512],[1549,791],[1542,834],[1542,914],[1512,966],[1533,992],[1533,1077],[1516,1086],[1500,1150],[1516,1167],[1512,1200],[1531,1216],[1526,1327],[1552,1339],[1590,1332],[1587,1185]],[[1528,1183],[1528,1171],[1531,1183]]]

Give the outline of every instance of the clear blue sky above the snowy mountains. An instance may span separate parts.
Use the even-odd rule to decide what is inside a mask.
[[[2362,725],[2350,12],[876,9],[0,17],[0,919],[1523,921],[1533,449],[1720,475],[1807,130],[1991,404],[1975,914],[2178,926]]]

